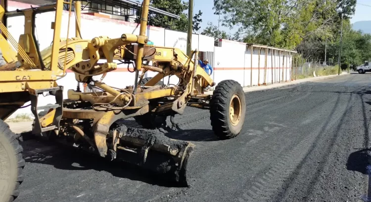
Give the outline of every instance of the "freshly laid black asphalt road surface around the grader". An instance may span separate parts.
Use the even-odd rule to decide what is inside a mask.
[[[125,163],[36,140],[16,202],[363,202],[371,197],[371,74],[350,74],[246,94],[243,131],[218,140],[209,112],[187,108],[182,133],[196,144],[189,188]]]

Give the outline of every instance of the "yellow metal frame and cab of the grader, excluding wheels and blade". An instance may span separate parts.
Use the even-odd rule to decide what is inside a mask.
[[[207,85],[214,85],[210,76],[197,64],[197,50],[192,51],[187,56],[178,48],[146,45],[148,37],[145,35],[145,29],[149,0],[143,0],[139,35],[122,34],[121,38],[113,39],[107,36],[99,36],[94,37],[92,40],[81,39],[79,15],[77,15],[76,19],[76,37],[71,39],[67,34],[65,40],[60,38],[63,4],[65,3],[69,4],[71,8],[72,2],[65,2],[63,0],[57,0],[56,5],[38,7],[38,12],[54,10],[54,8],[56,11],[55,22],[52,26],[54,29],[53,43],[51,47],[43,51],[38,50],[32,33],[35,10],[30,8],[21,11],[25,15],[25,21],[28,22],[31,19],[31,23],[25,26],[25,33],[22,35],[22,38],[26,40],[20,41],[22,44],[19,50],[25,50],[27,52],[27,56],[32,59],[38,70],[31,71],[30,69],[34,68],[32,64],[24,63],[18,70],[0,71],[2,75],[0,78],[0,89],[3,92],[33,91],[34,89],[56,87],[56,79],[59,76],[64,76],[67,69],[75,73],[75,78],[78,82],[89,82],[93,75],[105,74],[117,68],[117,64],[113,62],[114,59],[117,59],[117,53],[121,53],[120,56],[123,60],[136,61],[137,74],[142,69],[144,69],[143,72],[147,70],[159,72],[145,84],[146,86],[154,86],[163,77],[174,74],[182,80],[183,90],[173,87],[150,91],[141,91],[139,89],[139,92],[133,95],[133,92],[121,92],[102,82],[95,81],[96,86],[107,92],[105,96],[101,95],[103,96],[102,99],[100,97],[99,99],[96,97],[93,98],[89,94],[75,91],[68,93],[69,98],[71,100],[90,101],[92,104],[116,103],[119,106],[125,106],[122,109],[132,110],[143,108],[146,105],[148,108],[150,100],[175,96],[176,99],[171,109],[177,113],[183,113],[185,104],[189,99],[202,94],[202,89]],[[81,13],[80,6],[75,6],[75,9],[77,13]],[[71,14],[71,9],[69,12]],[[19,15],[19,12],[4,13],[0,9],[0,17],[16,14]],[[70,24],[70,17],[68,24]],[[1,45],[0,43],[0,47]],[[133,51],[129,51],[130,48]],[[13,61],[15,55],[16,53],[13,51],[9,52],[9,56],[4,55],[4,57],[6,57],[6,61]],[[22,60],[22,57],[19,57],[19,51],[17,59]],[[98,60],[100,59],[105,59],[106,62],[98,64]],[[155,66],[143,65],[143,60],[152,61]],[[42,70],[44,67],[45,69]],[[5,85],[7,86],[6,88],[4,87]],[[134,89],[134,92],[136,91],[137,89]],[[147,111],[149,111],[149,108],[142,111],[142,113],[146,113]],[[55,110],[51,110],[45,118],[40,120],[43,127],[53,122],[51,117],[53,117],[54,112]],[[108,114],[105,114],[103,118],[108,116]]]

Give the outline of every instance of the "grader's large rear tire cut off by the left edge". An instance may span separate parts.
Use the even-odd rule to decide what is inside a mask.
[[[0,201],[12,202],[19,195],[19,185],[23,181],[22,170],[25,161],[23,148],[18,136],[0,120]]]

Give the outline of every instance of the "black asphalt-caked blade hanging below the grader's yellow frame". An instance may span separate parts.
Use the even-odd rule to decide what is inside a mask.
[[[118,153],[119,160],[139,165],[142,168],[150,169],[154,174],[162,174],[162,181],[167,179],[168,183],[174,186],[187,187],[186,166],[188,158],[193,152],[193,144],[187,141],[174,140],[165,135],[165,129],[142,129],[127,127],[125,120],[119,120],[111,127],[113,131],[122,134],[123,138],[135,138],[141,141],[142,147],[137,149],[137,153],[122,151]],[[165,132],[165,133],[164,133]],[[132,140],[131,140],[132,141]],[[122,141],[125,144],[130,144],[130,141]],[[159,147],[166,147],[166,150]],[[151,148],[151,149],[149,149]],[[118,149],[119,151],[120,149]],[[147,152],[146,152],[147,151]],[[176,156],[171,152],[175,151]],[[181,157],[181,158],[179,158]]]

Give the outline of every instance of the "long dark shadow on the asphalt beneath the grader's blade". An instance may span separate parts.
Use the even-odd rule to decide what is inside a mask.
[[[82,150],[77,150],[54,142],[29,140],[21,142],[26,162],[51,165],[62,170],[97,170],[106,171],[115,177],[141,181],[162,187],[179,187],[163,174],[140,168],[126,162],[109,161]]]

